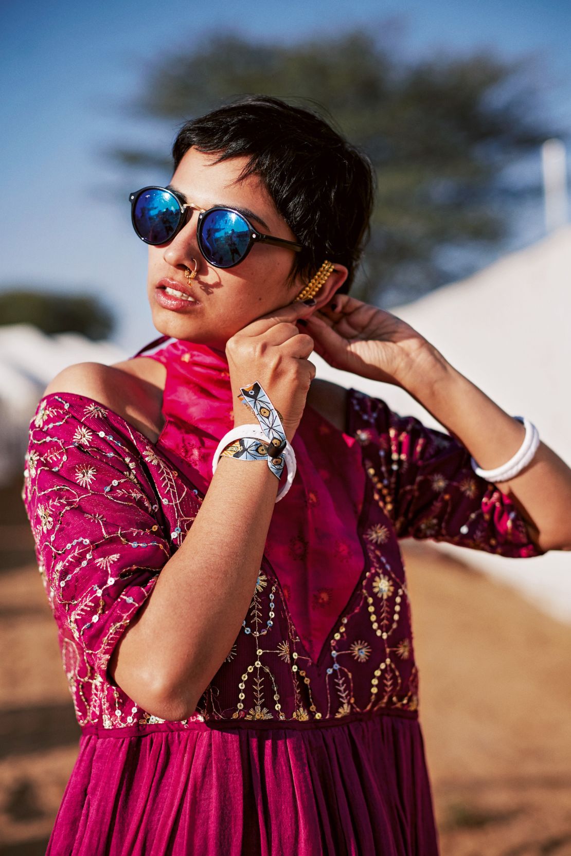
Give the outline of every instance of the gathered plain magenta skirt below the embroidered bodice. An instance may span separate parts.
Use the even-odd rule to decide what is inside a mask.
[[[86,726],[46,853],[437,856],[419,720]]]

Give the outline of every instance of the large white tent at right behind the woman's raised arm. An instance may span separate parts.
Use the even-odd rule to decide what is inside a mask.
[[[531,419],[544,443],[569,465],[570,271],[571,226],[564,226],[473,276],[390,309],[503,410]],[[337,372],[315,353],[310,359],[318,377],[362,389],[397,413],[445,430],[404,390]],[[452,544],[434,546],[514,583],[538,607],[571,621],[571,553],[520,560]]]

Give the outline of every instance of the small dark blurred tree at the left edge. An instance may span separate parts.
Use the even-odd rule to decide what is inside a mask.
[[[89,295],[14,287],[0,292],[0,324],[33,324],[45,333],[82,333],[98,341],[113,332],[115,318]]]

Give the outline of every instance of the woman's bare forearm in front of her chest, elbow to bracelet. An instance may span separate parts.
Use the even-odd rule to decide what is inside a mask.
[[[147,712],[189,716],[252,602],[278,481],[266,461],[222,456],[193,524],[117,645],[113,675]]]

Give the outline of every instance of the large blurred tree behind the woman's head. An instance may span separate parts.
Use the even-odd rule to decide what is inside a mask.
[[[567,135],[533,118],[529,70],[529,60],[506,62],[489,51],[405,64],[393,45],[360,32],[287,46],[217,36],[192,52],[161,51],[133,106],[174,127],[223,101],[264,93],[332,116],[377,170],[371,241],[352,294],[380,302],[388,289],[412,299],[472,272],[470,251],[497,246],[514,205],[541,193],[538,179],[518,187],[503,176],[547,137]],[[171,175],[163,153],[109,153]]]

